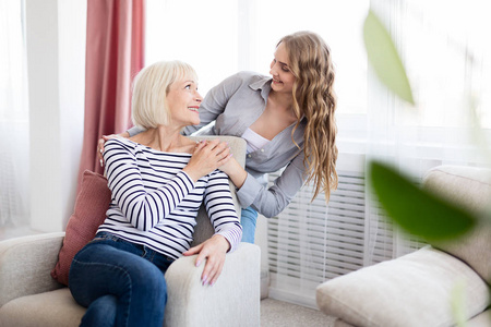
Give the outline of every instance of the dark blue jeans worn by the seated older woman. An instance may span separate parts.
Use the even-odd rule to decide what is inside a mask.
[[[173,259],[107,232],[97,233],[73,258],[69,287],[87,307],[80,326],[158,326],[164,323]]]

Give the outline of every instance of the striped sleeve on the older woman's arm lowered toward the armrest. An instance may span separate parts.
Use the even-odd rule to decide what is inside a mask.
[[[204,203],[215,234],[223,235],[230,243],[229,252],[233,252],[242,239],[242,227],[233,206],[228,177],[224,172],[215,170],[209,174]]]

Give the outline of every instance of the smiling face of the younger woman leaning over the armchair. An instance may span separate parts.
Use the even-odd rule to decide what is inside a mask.
[[[288,53],[283,43],[276,48],[275,58],[271,63],[270,74],[273,76],[273,82],[271,83],[273,90],[283,93],[292,92],[295,76],[290,71]]]

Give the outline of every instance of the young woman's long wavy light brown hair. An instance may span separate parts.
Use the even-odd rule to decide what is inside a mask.
[[[307,182],[313,181],[315,198],[324,192],[328,202],[331,191],[337,189],[336,172],[337,126],[334,117],[336,94],[334,65],[331,50],[324,40],[312,32],[297,32],[283,37],[289,59],[289,68],[295,75],[294,111],[300,120],[307,119],[304,138],[304,161]]]

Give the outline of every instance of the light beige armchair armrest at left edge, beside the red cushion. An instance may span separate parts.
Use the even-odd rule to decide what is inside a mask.
[[[62,287],[50,276],[64,232],[0,242],[0,306],[10,300]]]

